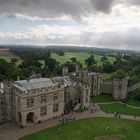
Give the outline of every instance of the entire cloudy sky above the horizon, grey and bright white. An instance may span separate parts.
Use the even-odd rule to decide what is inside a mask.
[[[140,50],[140,0],[0,0],[0,44]]]

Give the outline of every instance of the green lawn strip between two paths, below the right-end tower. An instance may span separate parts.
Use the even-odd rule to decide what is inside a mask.
[[[108,112],[108,113],[118,112],[118,113],[124,114],[124,115],[140,116],[140,109],[131,108],[128,106],[117,104],[117,103],[101,104],[100,107],[101,107],[101,110]]]

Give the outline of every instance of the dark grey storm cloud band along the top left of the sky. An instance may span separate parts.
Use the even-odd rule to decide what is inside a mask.
[[[81,17],[95,11],[108,13],[115,0],[0,0],[0,14],[38,17]]]

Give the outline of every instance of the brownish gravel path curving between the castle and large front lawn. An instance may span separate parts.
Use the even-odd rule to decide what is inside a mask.
[[[90,109],[86,112],[72,113],[70,115],[75,116],[76,120],[90,118],[90,117],[114,118],[114,114],[107,114],[102,111],[90,113]],[[121,118],[140,121],[140,117],[135,118],[134,116],[128,116],[128,115],[121,115]],[[56,126],[59,123],[60,123],[59,119],[57,118],[57,119],[50,119],[50,120],[44,121],[40,124],[35,124],[27,128],[19,128],[16,124],[5,124],[5,125],[0,126],[0,140],[17,140],[20,137],[40,131],[42,129]]]

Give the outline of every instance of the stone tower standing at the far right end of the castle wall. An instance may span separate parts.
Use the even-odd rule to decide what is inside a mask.
[[[113,80],[113,97],[116,100],[123,100],[127,96],[128,79]]]

